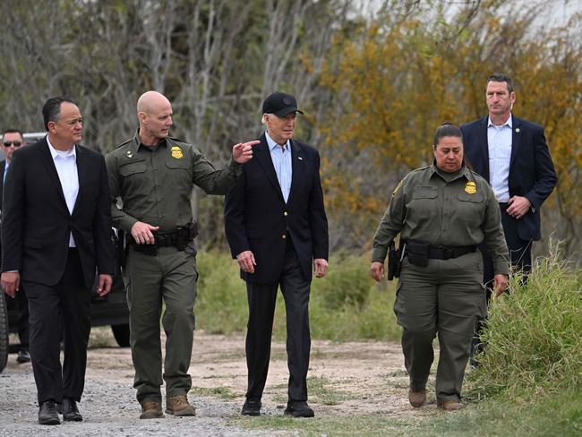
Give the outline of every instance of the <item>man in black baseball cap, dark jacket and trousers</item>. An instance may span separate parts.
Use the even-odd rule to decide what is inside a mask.
[[[225,229],[232,255],[246,281],[249,321],[246,335],[248,390],[242,414],[261,414],[278,287],[287,313],[288,416],[312,417],[307,405],[311,337],[308,303],[312,268],[328,269],[328,221],[323,206],[320,156],[292,140],[295,98],[276,92],[262,105],[266,125],[255,159],[227,194]]]

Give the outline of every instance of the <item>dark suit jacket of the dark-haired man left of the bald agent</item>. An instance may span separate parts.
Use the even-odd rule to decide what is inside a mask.
[[[75,148],[79,193],[73,214],[47,139],[14,151],[4,183],[2,271],[19,270],[23,280],[55,286],[63,277],[73,233],[87,287],[96,268],[115,273],[105,159],[96,151]]]

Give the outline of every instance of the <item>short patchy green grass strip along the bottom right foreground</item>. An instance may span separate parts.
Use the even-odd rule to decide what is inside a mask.
[[[286,416],[235,417],[231,424],[248,429],[297,431],[302,436],[512,436],[569,437],[582,433],[582,395],[578,390],[552,394],[534,403],[486,400],[456,413],[436,411],[411,416],[322,415],[313,419]]]

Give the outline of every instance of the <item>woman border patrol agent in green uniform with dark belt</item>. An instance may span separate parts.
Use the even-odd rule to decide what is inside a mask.
[[[484,242],[492,254],[495,287],[507,287],[509,253],[492,188],[463,162],[457,126],[441,125],[434,136],[432,166],[410,172],[398,184],[373,238],[372,278],[384,276],[389,244],[400,233],[404,250],[394,311],[402,326],[402,350],[413,407],[426,401],[426,381],[438,333],[437,405],[455,410],[469,356],[475,319],[485,311]]]

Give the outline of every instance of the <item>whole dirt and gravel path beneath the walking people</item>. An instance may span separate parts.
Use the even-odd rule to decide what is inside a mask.
[[[295,435],[258,432],[227,424],[244,402],[246,364],[244,336],[216,336],[196,332],[193,391],[196,418],[140,421],[135,400],[133,365],[128,348],[112,347],[107,329],[93,330],[88,355],[87,383],[80,404],[85,420],[77,424],[41,427],[30,364],[9,364],[0,373],[0,435]],[[107,345],[110,345],[107,347]],[[274,342],[263,413],[282,415],[287,403],[285,344]],[[398,343],[313,341],[308,384],[316,416],[381,414],[389,417],[425,416],[407,402],[407,375]]]

